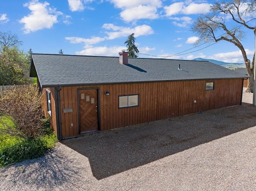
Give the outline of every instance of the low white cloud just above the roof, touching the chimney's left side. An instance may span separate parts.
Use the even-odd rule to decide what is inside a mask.
[[[115,56],[118,57],[118,52],[123,49],[127,49],[125,46],[99,46],[86,48],[82,51],[76,51],[76,55],[94,55],[94,56]]]

